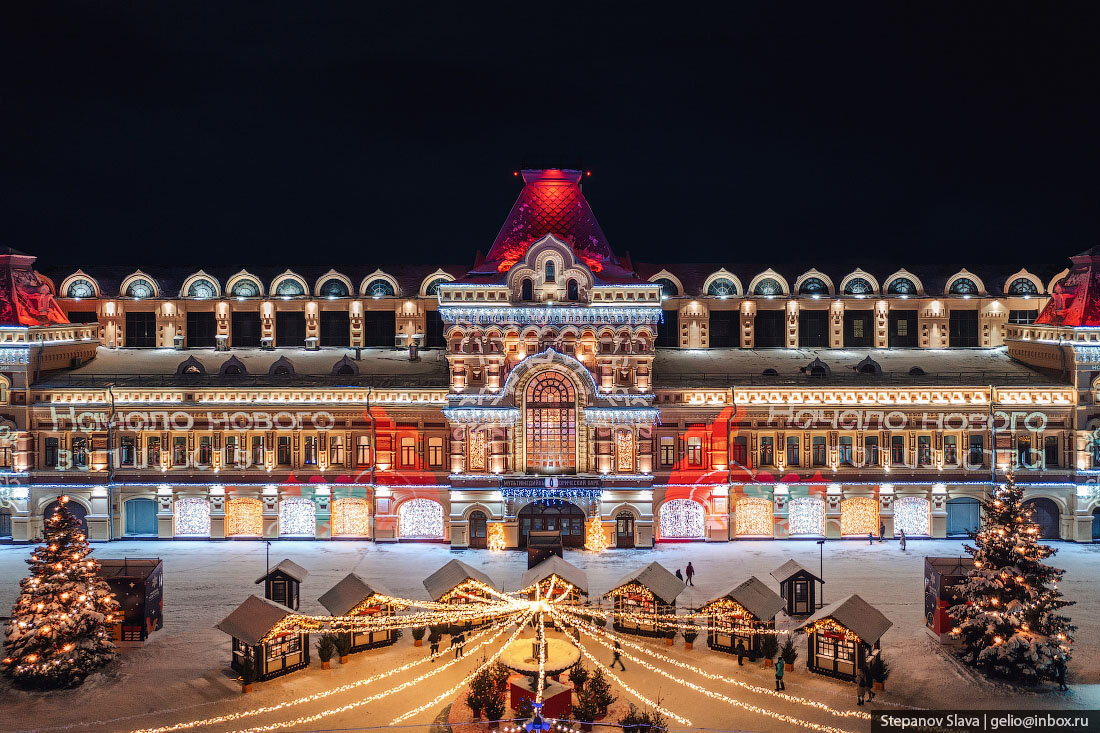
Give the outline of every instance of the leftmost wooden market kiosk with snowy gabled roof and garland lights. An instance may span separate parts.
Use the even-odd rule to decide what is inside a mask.
[[[252,659],[256,680],[263,681],[309,666],[309,634],[280,634],[266,638],[294,611],[258,595],[250,595],[215,628],[233,637],[231,666],[242,671]]]

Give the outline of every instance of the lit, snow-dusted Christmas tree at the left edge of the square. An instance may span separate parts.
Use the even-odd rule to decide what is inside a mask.
[[[3,669],[16,683],[34,688],[79,685],[114,656],[108,625],[118,602],[99,576],[99,564],[80,522],[62,496],[46,519],[45,545],[34,548],[31,576],[12,608]]]

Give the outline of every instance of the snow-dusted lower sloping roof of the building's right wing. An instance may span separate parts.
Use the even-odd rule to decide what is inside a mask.
[[[871,358],[881,373],[855,369]],[[805,370],[821,359],[820,376]],[[774,370],[774,375],[765,375]],[[818,372],[821,373],[821,372]],[[769,372],[771,374],[771,372]],[[996,349],[658,349],[653,358],[658,387],[671,386],[845,386],[1058,384]]]

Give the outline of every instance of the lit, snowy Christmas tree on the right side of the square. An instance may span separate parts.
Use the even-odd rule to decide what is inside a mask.
[[[964,603],[952,606],[952,634],[960,657],[987,675],[1033,685],[1052,679],[1058,660],[1069,660],[1076,626],[1058,613],[1071,604],[1058,591],[1063,570],[1043,560],[1056,550],[1038,541],[1032,508],[1013,477],[982,502],[974,535],[975,567],[958,587]]]

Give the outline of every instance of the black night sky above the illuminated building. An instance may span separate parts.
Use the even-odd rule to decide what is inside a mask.
[[[1098,3],[0,10],[0,244],[40,265],[472,263],[520,167],[649,262],[1060,263]]]

